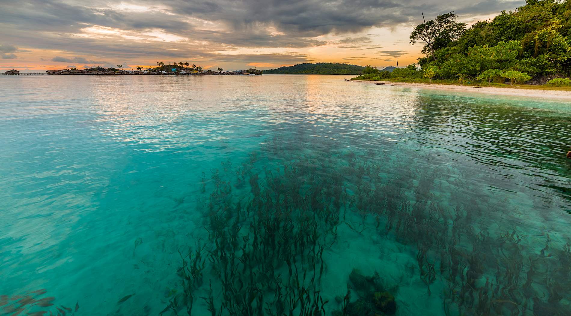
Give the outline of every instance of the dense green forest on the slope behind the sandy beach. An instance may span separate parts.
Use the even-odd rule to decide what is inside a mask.
[[[527,0],[515,11],[502,11],[468,29],[456,18],[453,12],[439,15],[413,30],[410,42],[424,43],[418,65],[392,74],[367,67],[359,79],[569,84],[571,0]]]

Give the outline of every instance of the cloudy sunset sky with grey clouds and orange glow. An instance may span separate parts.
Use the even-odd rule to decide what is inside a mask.
[[[469,24],[523,0],[0,0],[0,71],[188,62],[270,69],[379,68],[422,54],[414,26],[455,11]]]

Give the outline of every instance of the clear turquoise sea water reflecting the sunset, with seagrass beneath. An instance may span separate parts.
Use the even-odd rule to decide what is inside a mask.
[[[0,315],[568,315],[569,103],[349,77],[0,76]]]

